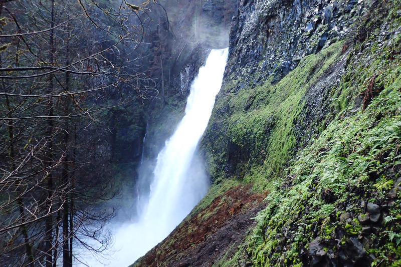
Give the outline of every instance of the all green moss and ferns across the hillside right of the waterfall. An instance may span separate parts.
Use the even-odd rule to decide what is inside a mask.
[[[239,249],[232,257],[237,261],[229,260],[229,265],[247,255],[254,266],[301,264],[299,252],[308,249],[317,236],[327,244],[325,251],[335,251],[330,244],[337,242],[339,231],[345,232],[338,241],[342,245],[361,234],[357,220],[364,213],[361,199],[387,202],[401,165],[401,57],[397,48],[401,41],[398,37],[389,45],[379,45],[375,38],[355,44],[348,67],[330,95],[331,114],[316,124],[319,136],[298,151],[296,160],[292,160],[298,145],[294,125],[305,107],[303,97],[339,60],[344,43],[305,57],[277,84],[265,81],[242,86],[243,81],[234,76],[226,84],[216,109],[229,119],[212,118],[212,125],[218,122],[221,129],[227,129],[211,142],[217,144],[214,151],[220,151],[209,155],[213,174],[225,177],[223,172],[230,167],[227,162],[233,161],[227,151],[232,149],[241,157],[234,160],[238,166],[231,177],[253,183],[256,191],[270,192],[267,207],[255,218],[257,225],[246,249]],[[376,77],[375,95],[363,111],[361,99],[372,77]],[[377,243],[368,251],[377,258],[376,265],[400,261],[399,202],[391,206],[379,236],[368,235]],[[345,211],[350,219],[338,221]]]

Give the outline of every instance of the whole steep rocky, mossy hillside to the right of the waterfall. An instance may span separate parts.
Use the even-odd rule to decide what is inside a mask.
[[[133,266],[399,266],[400,6],[242,0],[214,184]]]

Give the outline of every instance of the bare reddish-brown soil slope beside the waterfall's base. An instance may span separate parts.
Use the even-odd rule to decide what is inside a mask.
[[[249,186],[231,188],[178,225],[135,266],[212,266],[225,254],[230,257],[255,224],[252,218],[265,197]]]

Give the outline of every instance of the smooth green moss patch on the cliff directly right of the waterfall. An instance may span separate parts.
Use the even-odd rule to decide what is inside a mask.
[[[216,109],[228,109],[230,116],[223,122],[227,125],[227,134],[212,144],[229,144],[236,150],[233,153],[241,155],[245,164],[235,172],[236,178],[252,182],[255,190],[263,191],[269,186],[269,180],[282,174],[283,166],[294,154],[297,142],[294,126],[305,105],[305,92],[338,59],[342,46],[343,42],[338,42],[305,57],[275,85],[268,80],[252,85],[252,89],[230,92],[217,103]],[[232,78],[224,91],[241,84]],[[212,118],[212,124],[213,119],[216,118]],[[223,149],[227,150],[230,149]],[[218,168],[227,164],[222,162],[227,156],[217,154],[214,148],[211,151],[214,153],[208,158],[211,173],[222,176]]]

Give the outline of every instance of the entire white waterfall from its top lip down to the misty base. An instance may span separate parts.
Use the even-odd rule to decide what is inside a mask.
[[[108,265],[132,264],[163,240],[207,193],[209,179],[204,175],[205,170],[193,163],[196,146],[222,85],[227,57],[228,49],[212,50],[206,65],[199,69],[191,85],[185,115],[157,156],[150,195],[144,197],[148,202],[139,208],[139,220],[113,231],[116,252]]]

